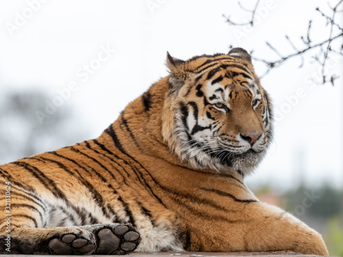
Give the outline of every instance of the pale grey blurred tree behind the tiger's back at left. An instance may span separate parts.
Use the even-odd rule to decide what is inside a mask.
[[[41,91],[5,93],[0,101],[0,164],[54,150],[84,140],[75,112],[64,103],[49,118],[39,121],[49,95]],[[80,132],[81,131],[81,132]]]

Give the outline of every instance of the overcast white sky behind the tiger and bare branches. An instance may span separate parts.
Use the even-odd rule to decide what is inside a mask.
[[[317,6],[327,10],[326,1],[268,2],[261,1],[256,26],[244,30],[222,16],[244,19],[236,1],[0,1],[0,94],[40,88],[51,95],[47,101],[54,101],[58,90],[72,84],[75,90],[64,103],[80,115],[75,126],[82,124],[95,138],[129,101],[167,75],[167,51],[187,59],[226,53],[233,45],[269,59],[276,56],[265,41],[286,54],[292,51],[288,34],[302,47],[298,38],[307,32],[309,19],[314,19],[314,40],[329,33],[314,11]],[[247,7],[254,3],[244,1]],[[244,36],[237,36],[237,29]],[[342,74],[342,63],[332,62],[331,71]],[[306,62],[298,69],[299,64],[290,60],[261,81],[283,118],[275,125],[270,153],[248,182],[291,188],[303,177],[309,184],[342,187],[342,78],[334,87],[316,86],[308,77],[318,74],[318,66]],[[263,73],[263,66],[256,69]],[[299,162],[303,174],[296,168]]]

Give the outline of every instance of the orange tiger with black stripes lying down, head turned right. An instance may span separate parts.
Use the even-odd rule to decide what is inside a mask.
[[[244,182],[273,131],[250,54],[166,62],[98,138],[0,166],[1,254],[328,256],[318,232]]]

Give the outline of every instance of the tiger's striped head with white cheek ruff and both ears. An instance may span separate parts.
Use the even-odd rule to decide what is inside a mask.
[[[162,134],[171,151],[196,169],[250,173],[265,156],[272,118],[247,51],[187,61],[167,53],[167,66]]]

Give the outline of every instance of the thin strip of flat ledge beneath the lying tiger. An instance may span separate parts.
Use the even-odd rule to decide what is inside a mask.
[[[8,257],[29,257],[29,256],[35,256],[36,255],[24,255],[24,254],[1,254],[2,256],[8,256]],[[51,257],[52,255],[39,255],[39,257]],[[58,256],[58,255],[54,255]],[[60,255],[62,257],[62,255]],[[72,255],[69,255],[72,257]],[[75,256],[75,255],[73,255]],[[92,255],[94,257],[97,256],[104,256],[104,255]],[[272,256],[272,257],[287,257],[287,256],[296,256],[296,257],[314,257],[318,255],[305,255],[305,254],[297,254],[295,252],[291,251],[278,251],[278,252],[142,252],[142,253],[134,253],[129,254],[127,257],[225,257],[225,256],[239,256],[239,257],[249,257],[249,256],[255,256],[255,257],[262,257],[262,256]],[[64,255],[63,257],[66,257]]]

